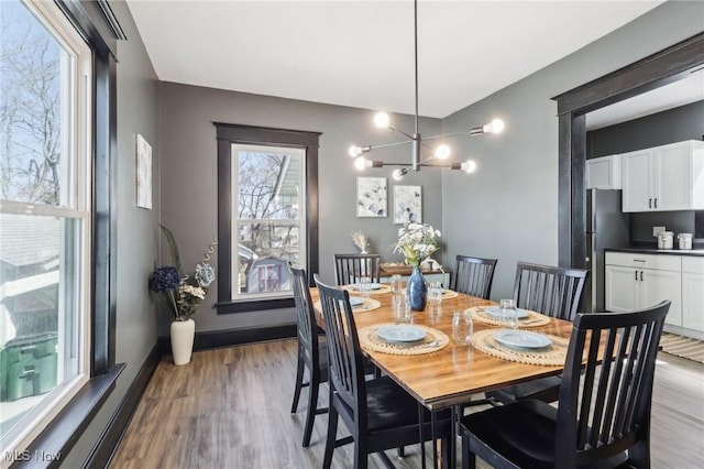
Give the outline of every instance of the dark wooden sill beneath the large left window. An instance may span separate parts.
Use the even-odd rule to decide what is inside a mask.
[[[94,377],[68,403],[54,421],[26,448],[30,455],[46,455],[47,458],[31,458],[15,462],[11,468],[57,468],[63,457],[70,451],[86,430],[102,404],[114,390],[124,363],[112,367],[106,374]],[[51,460],[48,460],[51,459]]]

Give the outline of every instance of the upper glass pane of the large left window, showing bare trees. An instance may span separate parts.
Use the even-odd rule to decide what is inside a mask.
[[[0,1],[0,198],[69,205],[70,56],[21,2]]]

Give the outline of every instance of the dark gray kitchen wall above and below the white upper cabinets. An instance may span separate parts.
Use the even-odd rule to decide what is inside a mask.
[[[704,86],[704,85],[702,85]],[[681,142],[700,140],[704,134],[704,101],[692,102],[640,119],[586,132],[587,154],[593,157]],[[698,210],[704,214],[704,210]],[[702,215],[698,215],[700,217]],[[674,233],[695,233],[695,211],[630,214],[630,241],[653,244],[652,227],[667,227]],[[695,233],[698,238],[704,233]]]

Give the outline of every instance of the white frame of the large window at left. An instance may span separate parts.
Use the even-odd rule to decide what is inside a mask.
[[[79,220],[76,252],[79,260],[74,265],[80,266],[76,277],[73,304],[78,308],[78,324],[75,326],[78,349],[62,350],[61,337],[65,324],[62,308],[66,304],[59,299],[59,359],[57,361],[57,386],[46,394],[13,428],[0,440],[3,455],[22,457],[25,448],[58,415],[90,378],[90,319],[91,319],[91,181],[92,181],[92,53],[89,45],[72,25],[69,20],[54,2],[23,0],[25,7],[46,28],[50,34],[72,56],[62,58],[62,99],[73,95],[70,110],[62,113],[62,155],[70,155],[70,161],[62,161],[62,195],[59,206],[26,204],[14,200],[0,200],[0,212],[15,215],[53,216],[57,218]],[[65,57],[65,56],[64,56]],[[63,86],[69,83],[70,91]],[[69,130],[70,132],[68,132]],[[68,152],[68,153],[66,153]],[[70,164],[68,164],[70,163]],[[69,190],[70,189],[70,190]],[[64,288],[59,288],[63,292]],[[62,293],[63,294],[63,293]],[[59,294],[59,296],[62,295]],[[77,362],[77,374],[69,380],[62,380],[64,373],[64,353],[72,356]],[[31,456],[31,455],[30,455]],[[9,467],[13,458],[0,458],[0,468]]]

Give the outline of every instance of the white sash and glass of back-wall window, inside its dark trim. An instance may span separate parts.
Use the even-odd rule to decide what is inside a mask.
[[[306,265],[306,152],[232,146],[232,299],[290,296],[286,265]]]

